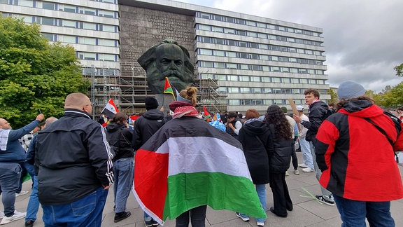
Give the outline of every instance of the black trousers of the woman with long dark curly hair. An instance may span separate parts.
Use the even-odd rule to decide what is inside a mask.
[[[278,216],[287,216],[287,209],[292,210],[292,201],[285,182],[285,172],[269,172],[270,188],[273,193],[274,211]]]

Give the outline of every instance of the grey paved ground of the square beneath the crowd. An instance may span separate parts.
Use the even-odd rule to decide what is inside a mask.
[[[299,163],[302,163],[302,154],[297,153]],[[337,208],[329,205],[320,204],[313,198],[309,197],[309,193],[316,195],[320,192],[318,181],[316,180],[314,173],[305,173],[299,169],[301,174],[295,175],[290,170],[290,177],[287,177],[287,184],[290,190],[292,202],[294,203],[294,210],[288,212],[287,218],[280,218],[267,211],[267,221],[265,226],[309,226],[309,227],[335,227],[341,226],[341,220]],[[400,173],[403,175],[403,167],[400,167]],[[24,190],[30,190],[30,182],[24,183]],[[27,195],[21,195],[16,198],[15,207],[18,211],[24,212],[27,209],[29,200],[29,193]],[[267,186],[267,207],[273,205],[272,194],[269,186]],[[0,209],[3,210],[3,205],[0,205]],[[134,199],[133,195],[129,196],[127,202],[127,209],[132,212],[132,216],[113,223],[113,193],[109,191],[108,201],[104,209],[104,220],[102,226],[135,226],[143,227],[143,211],[139,208],[139,204]],[[395,219],[396,226],[403,226],[403,216],[401,211],[403,210],[403,200],[397,200],[392,202],[391,211],[393,218]],[[24,226],[24,219],[14,221],[4,227],[11,226]],[[39,208],[38,220],[34,223],[34,226],[43,226],[42,221],[42,209]],[[175,226],[174,220],[167,220],[164,226]],[[227,210],[213,210],[208,207],[206,216],[206,226],[220,226],[220,227],[236,227],[236,226],[257,226],[255,219],[251,218],[249,222],[243,222],[241,219],[235,216],[234,212]]]

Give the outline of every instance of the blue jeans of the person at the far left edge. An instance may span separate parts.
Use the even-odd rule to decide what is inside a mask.
[[[15,193],[20,185],[22,168],[18,163],[0,163],[0,188],[3,194],[4,215],[13,216]]]

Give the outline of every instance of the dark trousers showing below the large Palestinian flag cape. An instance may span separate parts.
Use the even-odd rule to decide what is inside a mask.
[[[188,227],[189,218],[190,222],[192,223],[192,227],[206,226],[206,209],[207,206],[203,205],[184,212],[176,218],[176,227]]]

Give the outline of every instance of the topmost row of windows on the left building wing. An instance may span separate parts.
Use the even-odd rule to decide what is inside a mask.
[[[87,8],[67,4],[57,4],[50,1],[33,0],[0,0],[0,4],[9,4],[14,6],[27,6],[31,8],[43,8],[52,11],[64,11],[69,13],[80,13],[85,15],[94,15],[104,18],[118,18],[118,12],[105,11],[97,8]]]

